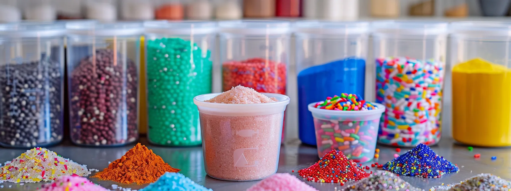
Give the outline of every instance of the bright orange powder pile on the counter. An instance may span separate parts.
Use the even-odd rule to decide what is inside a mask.
[[[160,156],[140,143],[130,149],[124,156],[113,161],[108,168],[96,173],[92,178],[112,180],[126,184],[145,184],[155,182],[165,172],[179,172],[165,163]]]

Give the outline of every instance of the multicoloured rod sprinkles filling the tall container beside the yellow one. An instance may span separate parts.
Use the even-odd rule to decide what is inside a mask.
[[[376,102],[386,106],[378,142],[433,145],[440,140],[442,62],[403,57],[376,60]]]

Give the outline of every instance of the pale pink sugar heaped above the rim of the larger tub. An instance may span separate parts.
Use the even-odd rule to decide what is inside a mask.
[[[254,89],[247,88],[244,86],[233,87],[232,89],[221,93],[220,95],[205,100],[205,102],[211,103],[236,103],[236,104],[247,104],[247,103],[269,103],[278,101],[275,98],[269,98]]]

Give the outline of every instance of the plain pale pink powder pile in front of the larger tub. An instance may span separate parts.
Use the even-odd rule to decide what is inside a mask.
[[[289,173],[277,173],[248,188],[247,191],[301,190],[317,191]]]

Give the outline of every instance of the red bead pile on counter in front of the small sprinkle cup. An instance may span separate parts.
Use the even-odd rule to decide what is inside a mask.
[[[344,184],[369,177],[369,173],[357,163],[348,159],[342,151],[332,150],[309,168],[298,171],[301,177],[312,182],[333,182]]]

